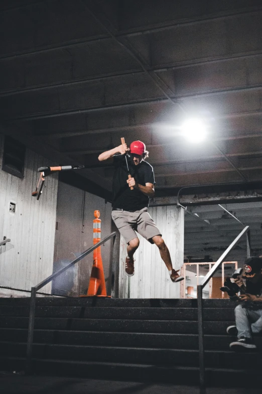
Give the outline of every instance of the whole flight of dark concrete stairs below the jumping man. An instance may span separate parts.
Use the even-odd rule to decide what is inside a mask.
[[[195,299],[37,298],[36,304],[35,373],[199,382]],[[229,350],[233,309],[229,300],[204,300],[207,382],[242,386],[245,377],[256,386],[260,353]],[[23,370],[28,316],[28,298],[0,299],[1,370]],[[262,349],[262,337],[255,342]]]

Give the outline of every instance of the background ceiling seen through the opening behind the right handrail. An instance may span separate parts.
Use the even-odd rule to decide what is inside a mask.
[[[210,256],[213,261],[224,252],[243,229],[249,225],[251,255],[262,253],[262,202],[222,204],[234,215],[233,218],[219,205],[187,207],[185,214],[185,256],[203,258]],[[246,236],[238,242],[227,261],[242,262],[246,258]]]

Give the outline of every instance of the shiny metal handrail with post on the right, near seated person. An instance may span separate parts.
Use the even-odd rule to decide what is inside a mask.
[[[244,233],[248,234],[249,226],[245,226],[242,231],[237,235],[234,241],[229,245],[229,247],[222,253],[222,255],[217,260],[216,264],[211,268],[211,270],[206,274],[201,284],[197,286],[197,309],[198,309],[198,336],[199,336],[199,377],[200,377],[200,386],[205,386],[205,363],[204,363],[204,333],[203,333],[203,298],[202,291],[205,285],[209,282],[218,268],[221,266],[222,262],[226,258],[229,252],[236,246],[242,235]],[[246,237],[247,243],[247,257],[250,254],[250,244],[249,237]]]

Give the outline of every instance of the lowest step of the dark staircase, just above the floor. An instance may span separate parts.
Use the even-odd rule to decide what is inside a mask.
[[[23,370],[25,358],[0,357],[0,368]],[[69,361],[33,359],[34,372],[55,376],[85,377],[105,380],[126,380],[143,382],[165,382],[198,385],[199,369],[176,365],[157,366],[152,364],[132,364],[93,361]],[[206,369],[207,385],[228,387],[260,387],[257,370]]]

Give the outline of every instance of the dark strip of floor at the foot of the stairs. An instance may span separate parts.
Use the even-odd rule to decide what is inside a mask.
[[[0,372],[3,394],[261,394],[261,389],[212,388],[150,384],[122,381],[63,378],[53,376],[21,376]]]

